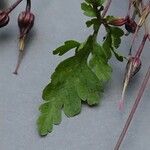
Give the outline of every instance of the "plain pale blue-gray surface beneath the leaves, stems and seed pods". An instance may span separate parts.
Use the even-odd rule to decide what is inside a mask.
[[[113,1],[112,13],[125,15],[127,2]],[[42,89],[60,60],[70,55],[53,56],[51,50],[67,39],[82,41],[90,33],[84,25],[87,18],[80,11],[80,2],[82,0],[33,0],[35,28],[18,76],[12,74],[18,54],[16,19],[24,4],[11,15],[9,25],[0,30],[0,150],[113,149],[148,68],[149,43],[142,55],[141,72],[128,90],[124,113],[118,111],[117,102],[125,63],[114,64],[112,60],[113,77],[106,87],[100,106],[89,108],[83,105],[80,115],[69,119],[63,116],[61,125],[55,126],[54,131],[45,138],[39,137],[36,130]],[[129,43],[130,38],[125,38],[120,47],[122,53],[127,54]],[[121,150],[149,150],[149,90],[150,84]]]

